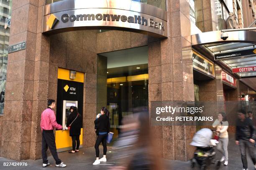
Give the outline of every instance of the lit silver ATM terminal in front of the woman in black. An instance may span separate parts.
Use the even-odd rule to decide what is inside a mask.
[[[67,130],[67,119],[69,115],[71,114],[70,112],[70,107],[75,106],[78,108],[78,101],[71,101],[71,100],[63,100],[63,111],[62,111],[62,130]]]

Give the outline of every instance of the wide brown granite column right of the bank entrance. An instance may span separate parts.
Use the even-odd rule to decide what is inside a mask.
[[[150,110],[154,101],[161,101],[163,105],[169,101],[194,101],[189,3],[168,0],[167,12],[169,37],[161,41],[148,40]],[[192,158],[193,148],[189,143],[195,126],[154,126],[153,129],[165,159]]]

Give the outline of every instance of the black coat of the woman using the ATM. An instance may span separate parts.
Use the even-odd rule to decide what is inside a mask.
[[[78,116],[77,116],[78,114]],[[74,120],[77,117],[76,120]],[[72,121],[74,120],[74,122],[72,123]],[[72,125],[70,126],[70,130],[69,130],[69,136],[76,136],[76,135],[80,135],[81,134],[81,128],[82,128],[82,117],[79,113],[77,112],[72,112],[67,120],[67,127],[69,127],[69,125],[72,123]]]

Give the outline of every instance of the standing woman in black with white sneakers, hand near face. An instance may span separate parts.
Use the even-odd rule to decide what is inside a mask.
[[[92,165],[98,165],[100,162],[106,162],[106,154],[107,154],[107,136],[110,132],[110,120],[109,120],[109,111],[106,107],[102,107],[100,113],[97,114],[95,124],[95,133],[97,135],[96,143],[95,143],[95,151],[96,151],[96,160]],[[100,150],[99,146],[102,143],[103,146],[103,157],[99,159]]]

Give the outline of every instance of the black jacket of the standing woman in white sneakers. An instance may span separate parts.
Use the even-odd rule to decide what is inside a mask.
[[[101,115],[94,121],[95,124],[95,133],[98,135],[99,132],[107,132],[110,131],[110,121],[107,115]]]

